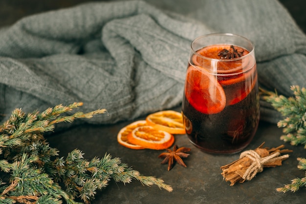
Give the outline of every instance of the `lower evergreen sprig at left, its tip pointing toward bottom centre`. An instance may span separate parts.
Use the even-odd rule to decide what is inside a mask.
[[[79,195],[85,203],[89,203],[94,198],[96,190],[106,187],[111,179],[123,183],[130,183],[135,179],[147,186],[155,184],[159,188],[172,191],[163,180],[142,176],[122,163],[119,158],[112,159],[110,155],[105,154],[102,159],[95,157],[88,161],[83,155],[80,150],[75,149],[66,159],[56,159],[51,165],[55,168],[48,171],[50,174],[52,172],[56,182],[65,183],[67,192],[73,196]]]

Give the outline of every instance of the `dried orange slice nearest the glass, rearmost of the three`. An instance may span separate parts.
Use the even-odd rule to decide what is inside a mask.
[[[183,116],[176,111],[160,111],[149,114],[146,118],[148,125],[157,130],[166,131],[170,134],[185,134]]]

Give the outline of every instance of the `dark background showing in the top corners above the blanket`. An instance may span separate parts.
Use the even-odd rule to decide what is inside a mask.
[[[0,0],[0,27],[24,16],[99,0]],[[111,0],[102,0],[111,1]],[[306,33],[306,0],[279,0]]]

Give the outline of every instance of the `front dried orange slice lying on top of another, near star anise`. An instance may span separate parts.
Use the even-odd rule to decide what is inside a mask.
[[[174,136],[166,131],[157,130],[150,125],[139,126],[129,135],[128,140],[134,145],[148,149],[162,150],[174,143]]]

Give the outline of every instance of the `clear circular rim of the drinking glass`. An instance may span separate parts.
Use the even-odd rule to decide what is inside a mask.
[[[247,42],[252,46],[252,49],[251,49],[251,50],[248,50],[248,49],[246,49],[245,47],[242,47],[242,48],[246,49],[249,53],[247,53],[246,55],[243,55],[243,56],[241,56],[241,57],[234,58],[234,59],[215,59],[215,58],[205,57],[205,56],[203,56],[203,55],[198,54],[198,53],[197,53],[198,49],[195,50],[195,49],[193,48],[193,44],[194,44],[197,40],[199,40],[199,39],[201,39],[201,38],[209,37],[209,36],[214,36],[214,35],[215,35],[215,36],[216,36],[216,35],[219,35],[219,36],[235,36],[235,37],[239,37],[239,38],[241,38],[241,39],[247,41]],[[215,45],[216,45],[216,44],[215,44]],[[218,45],[218,44],[217,44],[217,45]],[[220,43],[219,45],[227,45],[227,44],[224,44],[224,43],[222,44],[222,43]],[[236,46],[239,46],[239,45],[236,45]],[[244,59],[244,58],[246,58],[246,57],[248,57],[248,56],[250,56],[250,55],[253,55],[254,52],[255,52],[255,46],[254,46],[254,44],[251,42],[251,40],[249,40],[249,39],[247,39],[247,38],[245,38],[245,37],[243,37],[243,36],[241,36],[241,35],[237,35],[237,34],[233,34],[233,33],[210,33],[210,34],[202,35],[202,36],[197,37],[195,40],[193,40],[192,43],[191,43],[191,45],[190,45],[190,47],[191,47],[191,50],[192,50],[193,54],[197,55],[198,57],[203,58],[203,59],[206,59],[206,60],[217,61],[217,62],[230,62],[230,61],[241,60],[241,59]],[[203,48],[203,47],[202,47],[202,48]]]

